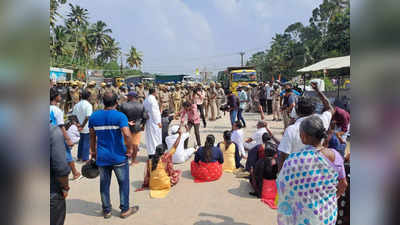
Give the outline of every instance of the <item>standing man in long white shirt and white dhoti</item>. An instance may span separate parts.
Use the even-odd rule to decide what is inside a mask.
[[[146,149],[149,159],[156,153],[156,146],[162,144],[161,135],[161,112],[156,99],[157,91],[154,87],[149,89],[149,95],[144,100],[144,110],[149,119],[146,121]]]

